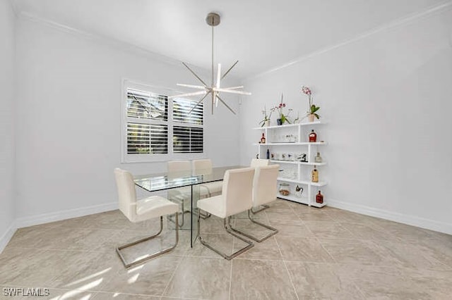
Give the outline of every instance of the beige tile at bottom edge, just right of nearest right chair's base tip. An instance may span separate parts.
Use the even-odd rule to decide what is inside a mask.
[[[279,261],[234,259],[230,299],[297,299]]]

